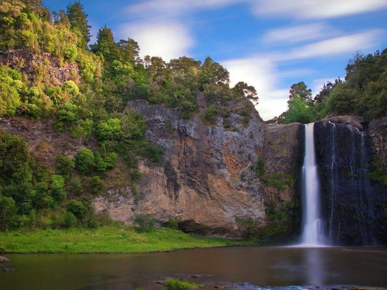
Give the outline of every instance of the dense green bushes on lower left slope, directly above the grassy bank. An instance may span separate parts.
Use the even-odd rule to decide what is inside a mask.
[[[85,150],[79,150],[77,156]],[[92,152],[91,157],[95,162]],[[103,186],[98,176],[91,177],[90,189],[79,200],[74,199],[84,192],[89,179],[81,182],[74,176],[78,164],[59,154],[53,174],[46,164],[35,162],[23,138],[0,131],[1,229],[95,227],[92,197],[86,193],[104,193]]]

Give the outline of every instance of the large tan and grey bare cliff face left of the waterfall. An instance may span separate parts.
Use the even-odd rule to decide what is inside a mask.
[[[203,112],[204,95],[199,93],[197,101]],[[289,174],[297,179],[301,124],[269,128],[253,110],[245,127],[238,123],[242,117],[232,113],[231,123],[238,131],[227,131],[222,118],[214,126],[206,126],[197,115],[188,120],[180,118],[177,109],[145,101],[129,102],[128,106],[146,118],[146,138],[164,148],[163,162],[156,165],[142,160],[136,198],[130,188],[124,190],[125,197],[112,191],[94,200],[98,212],[105,211],[126,223],[131,223],[134,214],[150,213],[164,225],[171,217],[189,232],[238,238],[246,234],[241,221],[264,227],[270,223],[269,203],[279,210],[284,202],[298,199],[294,184],[283,189],[264,184],[255,166],[263,157],[267,173]],[[173,126],[170,133],[167,124]],[[288,229],[296,228],[297,222],[290,218]]]

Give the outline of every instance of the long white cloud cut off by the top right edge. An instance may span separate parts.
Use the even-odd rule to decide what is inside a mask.
[[[253,1],[257,15],[323,19],[386,8],[385,0],[271,0]]]

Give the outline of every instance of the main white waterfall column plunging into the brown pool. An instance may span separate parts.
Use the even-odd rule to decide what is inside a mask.
[[[314,145],[314,123],[305,126],[305,157],[302,167],[303,184],[303,232],[301,244],[304,246],[324,246],[325,237],[320,220],[319,176]]]

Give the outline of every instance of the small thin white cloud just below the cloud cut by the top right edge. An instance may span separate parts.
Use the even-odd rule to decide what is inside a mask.
[[[270,29],[263,36],[265,43],[296,43],[300,41],[316,40],[326,37],[327,31],[332,36],[335,31],[325,23],[312,23],[291,27]]]

